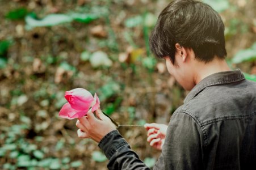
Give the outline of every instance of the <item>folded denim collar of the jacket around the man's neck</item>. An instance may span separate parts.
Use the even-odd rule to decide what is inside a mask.
[[[184,103],[187,103],[191,99],[193,99],[196,95],[198,95],[204,88],[208,86],[214,86],[217,84],[227,84],[233,82],[239,82],[244,80],[245,76],[241,73],[240,69],[233,70],[233,71],[223,71],[219,73],[215,73],[212,75],[207,76],[203,80],[201,80],[187,95],[184,99]]]

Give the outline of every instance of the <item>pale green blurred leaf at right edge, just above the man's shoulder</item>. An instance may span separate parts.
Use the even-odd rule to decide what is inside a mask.
[[[241,63],[244,61],[255,61],[256,59],[256,43],[250,48],[240,50],[233,58],[233,63]]]

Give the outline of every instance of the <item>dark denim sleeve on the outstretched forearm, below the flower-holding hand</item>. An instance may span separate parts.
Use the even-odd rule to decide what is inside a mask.
[[[103,137],[99,142],[99,148],[109,159],[108,169],[149,169],[117,130]]]

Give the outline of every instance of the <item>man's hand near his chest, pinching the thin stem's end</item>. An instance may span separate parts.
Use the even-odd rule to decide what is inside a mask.
[[[162,150],[163,142],[165,142],[165,136],[167,131],[167,125],[163,124],[145,124],[144,126],[148,130],[148,139],[150,146]]]

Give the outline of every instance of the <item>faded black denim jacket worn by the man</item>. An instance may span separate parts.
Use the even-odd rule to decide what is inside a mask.
[[[117,130],[99,147],[108,169],[149,169]],[[171,116],[154,169],[256,169],[256,83],[240,70],[198,83]]]

